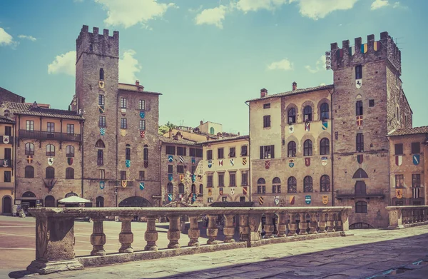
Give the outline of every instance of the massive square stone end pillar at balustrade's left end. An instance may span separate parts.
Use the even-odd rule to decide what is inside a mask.
[[[36,215],[36,260],[27,270],[49,274],[80,269],[83,265],[74,258],[74,216],[54,218]]]

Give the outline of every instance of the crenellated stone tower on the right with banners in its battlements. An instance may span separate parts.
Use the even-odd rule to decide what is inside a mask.
[[[389,167],[387,133],[412,126],[401,88],[401,51],[387,32],[331,44],[335,91],[333,191],[335,206],[352,206],[350,224],[387,226]]]

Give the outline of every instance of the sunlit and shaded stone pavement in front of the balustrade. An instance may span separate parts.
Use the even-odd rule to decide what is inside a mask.
[[[428,225],[352,232],[355,235],[349,237],[183,255],[26,278],[428,278]]]

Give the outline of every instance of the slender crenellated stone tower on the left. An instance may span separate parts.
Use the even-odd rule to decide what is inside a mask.
[[[89,33],[88,26],[83,25],[76,39],[77,101],[73,109],[85,118],[81,148],[86,165],[82,166],[83,184],[88,198],[98,196],[88,191],[102,191],[100,181],[106,183],[106,190],[113,191],[108,186],[113,186],[118,176],[118,52],[118,31],[109,36],[107,29],[98,34],[98,27],[93,27],[93,33]],[[106,190],[102,191],[104,195]]]

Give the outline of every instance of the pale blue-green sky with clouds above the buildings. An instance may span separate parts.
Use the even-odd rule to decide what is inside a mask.
[[[428,125],[425,0],[1,0],[0,87],[67,109],[82,25],[119,31],[119,81],[161,92],[159,124],[248,133],[245,101],[331,84],[330,44],[382,31],[402,51],[413,125]],[[424,31],[425,30],[425,31]]]

